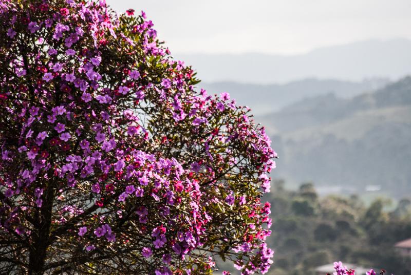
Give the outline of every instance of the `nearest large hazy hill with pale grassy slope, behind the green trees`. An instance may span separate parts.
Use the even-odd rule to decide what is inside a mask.
[[[411,193],[411,77],[351,99],[306,98],[257,120],[280,156],[275,177],[351,192],[380,185],[397,197]]]

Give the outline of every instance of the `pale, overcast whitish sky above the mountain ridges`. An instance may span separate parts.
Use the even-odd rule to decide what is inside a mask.
[[[294,55],[367,39],[411,39],[411,0],[106,0],[144,10],[174,54]]]

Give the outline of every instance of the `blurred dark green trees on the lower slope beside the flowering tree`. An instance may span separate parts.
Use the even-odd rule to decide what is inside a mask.
[[[266,197],[275,217],[273,234],[267,239],[276,248],[270,274],[314,275],[317,266],[335,259],[364,267],[384,267],[388,274],[411,270],[411,259],[394,250],[395,243],[411,238],[407,199],[387,213],[383,200],[377,199],[369,206],[357,196],[310,195],[316,199],[308,200],[306,184],[297,191],[284,189],[283,181],[272,184],[273,192]],[[296,200],[317,205],[315,215],[302,216],[301,210],[293,207]]]

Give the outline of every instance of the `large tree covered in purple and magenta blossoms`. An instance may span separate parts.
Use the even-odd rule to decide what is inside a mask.
[[[267,272],[264,128],[144,13],[0,0],[0,273]],[[228,272],[225,272],[228,274]]]

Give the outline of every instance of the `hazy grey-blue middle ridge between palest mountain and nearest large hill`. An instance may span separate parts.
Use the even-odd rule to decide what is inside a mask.
[[[384,87],[388,82],[387,78],[370,78],[362,81],[307,78],[286,84],[201,82],[199,86],[211,94],[229,92],[238,104],[249,106],[255,115],[263,115],[278,111],[304,98],[328,93],[342,98],[350,98]]]

